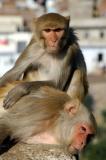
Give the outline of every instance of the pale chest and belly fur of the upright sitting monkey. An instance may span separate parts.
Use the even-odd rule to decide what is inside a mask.
[[[56,87],[63,89],[71,71],[71,65],[66,65],[63,61],[43,58],[38,69],[33,69],[26,74],[25,80],[28,81],[48,81],[55,82]]]

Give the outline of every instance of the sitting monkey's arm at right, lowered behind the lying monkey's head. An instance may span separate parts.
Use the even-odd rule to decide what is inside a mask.
[[[88,93],[87,69],[83,54],[80,49],[74,57],[74,72],[67,93],[71,97],[78,97],[81,101]]]

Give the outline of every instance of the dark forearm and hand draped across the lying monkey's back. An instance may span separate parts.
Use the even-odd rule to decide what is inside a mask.
[[[55,87],[52,81],[33,81],[33,82],[19,82],[13,89],[11,89],[3,101],[3,107],[8,109],[12,107],[23,96],[35,93],[42,86]]]

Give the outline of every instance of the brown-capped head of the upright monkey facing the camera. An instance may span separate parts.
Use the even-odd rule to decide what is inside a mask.
[[[69,21],[69,17],[57,13],[42,15],[35,21],[35,36],[48,53],[58,53],[66,45]]]

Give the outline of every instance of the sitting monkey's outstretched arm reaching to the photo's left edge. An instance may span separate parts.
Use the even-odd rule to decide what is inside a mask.
[[[30,65],[34,64],[34,66],[36,66],[39,63],[39,58],[43,54],[43,50],[40,49],[40,46],[38,46],[37,44],[32,44],[31,46],[28,45],[28,47],[17,59],[14,67],[0,78],[0,86],[5,85],[7,82],[20,80],[22,74]]]

